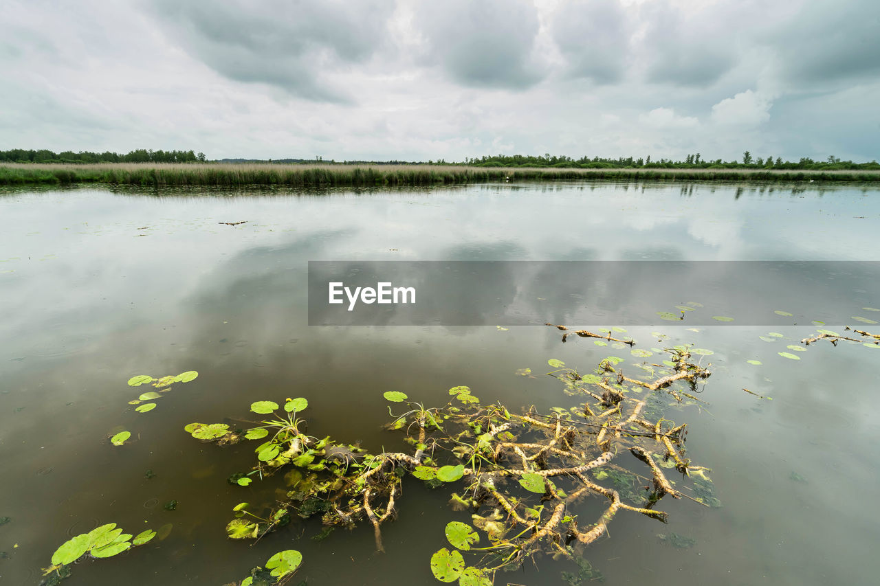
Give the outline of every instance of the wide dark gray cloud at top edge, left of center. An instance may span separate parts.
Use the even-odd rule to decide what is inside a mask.
[[[153,8],[172,38],[224,77],[339,102],[348,101],[346,93],[322,74],[368,60],[385,38],[394,3],[271,0],[258,9],[244,0],[154,0]]]

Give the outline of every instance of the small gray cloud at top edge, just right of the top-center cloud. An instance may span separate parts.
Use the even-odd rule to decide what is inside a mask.
[[[598,84],[620,81],[630,52],[632,22],[619,0],[569,0],[553,20],[553,36],[568,73]]]

